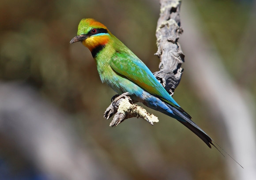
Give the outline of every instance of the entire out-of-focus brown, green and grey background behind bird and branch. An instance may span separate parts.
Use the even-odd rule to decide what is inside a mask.
[[[159,12],[158,0],[0,0],[0,180],[255,179],[253,0],[182,1],[173,96],[245,169],[151,109],[154,126],[103,118],[115,92],[90,51],[69,44],[79,21],[105,24],[155,72]]]

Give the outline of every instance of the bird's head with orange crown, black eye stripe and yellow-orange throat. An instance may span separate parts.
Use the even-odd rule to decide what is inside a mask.
[[[70,44],[81,41],[90,51],[98,46],[106,45],[110,40],[110,32],[105,25],[94,19],[82,19],[78,25],[77,36]]]

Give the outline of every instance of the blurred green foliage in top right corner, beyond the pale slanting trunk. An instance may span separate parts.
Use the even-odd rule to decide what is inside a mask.
[[[202,29],[210,35],[226,70],[240,86],[256,94],[253,0],[195,0],[195,3],[204,22]]]

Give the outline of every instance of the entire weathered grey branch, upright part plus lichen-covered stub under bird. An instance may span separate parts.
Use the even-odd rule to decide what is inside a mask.
[[[183,69],[184,54],[178,43],[180,34],[183,32],[180,22],[181,0],[160,0],[161,9],[158,19],[156,38],[158,51],[155,53],[160,58],[159,69],[154,76],[164,86],[166,91],[173,95],[179,85]],[[116,97],[104,113],[104,118],[109,119],[114,115],[110,126],[117,126],[131,117],[142,117],[153,125],[158,119],[142,107],[133,104],[132,99],[126,93]]]

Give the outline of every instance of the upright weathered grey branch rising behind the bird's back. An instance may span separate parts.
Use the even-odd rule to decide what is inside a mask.
[[[181,0],[160,0],[160,4],[160,17],[156,29],[158,50],[155,53],[160,59],[160,71],[154,75],[161,83],[169,82],[162,85],[173,95],[181,80],[181,64],[184,62],[184,54],[178,43],[183,32],[180,21]]]

